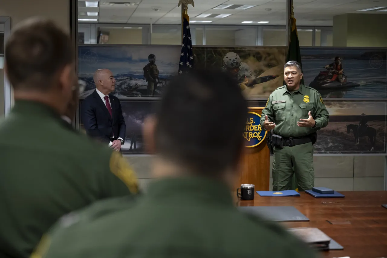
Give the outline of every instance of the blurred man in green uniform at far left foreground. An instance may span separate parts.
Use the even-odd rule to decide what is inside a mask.
[[[69,212],[138,191],[133,171],[116,151],[61,117],[75,115],[74,59],[68,34],[42,19],[18,24],[5,46],[15,105],[0,123],[2,258],[29,257],[42,235]]]

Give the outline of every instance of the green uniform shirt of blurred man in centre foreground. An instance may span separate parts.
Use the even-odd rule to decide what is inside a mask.
[[[137,201],[110,200],[62,218],[32,258],[312,258],[274,222],[239,212],[228,187],[200,177],[154,181]]]

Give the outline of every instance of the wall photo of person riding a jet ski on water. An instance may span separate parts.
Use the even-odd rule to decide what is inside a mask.
[[[304,83],[323,98],[385,98],[386,49],[302,47]]]

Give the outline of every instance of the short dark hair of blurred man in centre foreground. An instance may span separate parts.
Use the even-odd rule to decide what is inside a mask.
[[[247,112],[229,74],[195,69],[177,76],[156,112],[156,152],[195,174],[217,177],[238,163]]]

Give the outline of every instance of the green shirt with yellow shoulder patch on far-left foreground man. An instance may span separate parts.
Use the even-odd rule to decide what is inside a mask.
[[[0,149],[1,258],[29,257],[64,214],[137,191],[119,153],[37,102],[16,101],[0,123]]]

